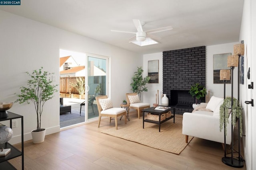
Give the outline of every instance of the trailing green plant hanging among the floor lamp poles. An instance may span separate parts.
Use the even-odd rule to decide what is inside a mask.
[[[220,105],[220,131],[222,131],[223,127],[225,127],[225,135],[227,135],[227,125],[228,125],[228,117],[230,115],[230,107],[231,107],[231,97],[227,97],[224,99],[223,104]],[[231,108],[232,111],[232,125],[236,126],[236,118],[240,118],[240,137],[242,137],[242,107],[239,104],[239,101],[236,98],[233,98],[233,105]],[[224,126],[225,120],[225,126]]]

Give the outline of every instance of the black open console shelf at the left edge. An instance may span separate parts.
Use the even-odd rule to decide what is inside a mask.
[[[6,121],[10,120],[10,128],[12,128],[12,119],[21,119],[21,150],[16,149],[14,146],[12,146],[10,143],[3,143],[0,144],[0,147],[7,149],[10,148],[11,151],[6,154],[6,156],[0,156],[0,167],[4,170],[16,170],[8,160],[16,158],[18,156],[22,156],[22,170],[24,170],[24,137],[23,137],[23,116],[18,115],[12,112],[7,111],[8,117],[0,118],[0,121]]]

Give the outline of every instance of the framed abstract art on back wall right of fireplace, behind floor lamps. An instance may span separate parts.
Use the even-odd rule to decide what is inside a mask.
[[[213,83],[214,84],[223,83],[223,80],[220,80],[220,70],[230,69],[230,67],[227,66],[228,55],[231,55],[231,53],[213,55]],[[226,83],[230,84],[230,80],[227,80]]]

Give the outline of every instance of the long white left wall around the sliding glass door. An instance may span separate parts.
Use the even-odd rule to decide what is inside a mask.
[[[0,10],[0,32],[2,62],[0,100],[3,102],[14,102],[17,99],[14,93],[19,93],[20,86],[26,85],[28,80],[26,71],[31,72],[43,66],[44,70],[54,72],[55,76],[59,77],[60,48],[111,58],[111,81],[114,83],[111,83],[112,91],[109,96],[114,106],[118,107],[125,94],[130,92],[133,72],[137,70],[137,66],[142,66],[142,55],[2,10]],[[59,84],[59,80],[54,83]],[[15,103],[9,111],[24,116],[24,140],[31,139],[30,131],[36,129],[33,105]],[[60,130],[58,92],[51,101],[46,102],[41,126],[46,128],[46,134]],[[10,143],[19,143],[20,121],[13,131]]]

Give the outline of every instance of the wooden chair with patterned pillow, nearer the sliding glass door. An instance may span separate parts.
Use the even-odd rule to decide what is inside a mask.
[[[98,121],[98,127],[100,127],[100,119],[102,116],[108,116],[115,118],[115,124],[117,129],[117,117],[124,115],[126,117],[126,109],[120,108],[120,107],[113,107],[113,104],[111,100],[108,98],[108,96],[97,96],[96,97],[97,107],[99,111],[99,121]],[[124,119],[124,122],[126,124],[126,119]]]

